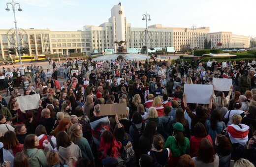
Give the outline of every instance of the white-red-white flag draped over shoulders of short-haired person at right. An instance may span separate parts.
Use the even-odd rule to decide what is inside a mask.
[[[245,145],[248,141],[249,126],[245,124],[240,125],[242,128],[234,124],[227,126],[228,135],[232,144],[239,143],[241,145]]]

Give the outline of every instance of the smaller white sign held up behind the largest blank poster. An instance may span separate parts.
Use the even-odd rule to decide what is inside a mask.
[[[213,78],[214,90],[229,91],[232,85],[232,79],[229,78]]]

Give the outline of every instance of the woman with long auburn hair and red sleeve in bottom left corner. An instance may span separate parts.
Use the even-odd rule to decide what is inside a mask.
[[[13,131],[7,131],[3,136],[2,156],[4,161],[10,161],[13,164],[14,157],[21,152],[23,144],[20,144]]]

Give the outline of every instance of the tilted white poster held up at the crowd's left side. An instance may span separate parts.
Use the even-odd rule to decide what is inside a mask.
[[[32,94],[27,96],[16,97],[17,102],[20,104],[21,111],[27,111],[32,109],[38,109],[39,107],[39,94]]]

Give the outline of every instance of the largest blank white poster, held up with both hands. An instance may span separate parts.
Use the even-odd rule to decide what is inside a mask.
[[[213,93],[211,84],[185,84],[184,93],[187,103],[209,104]]]

